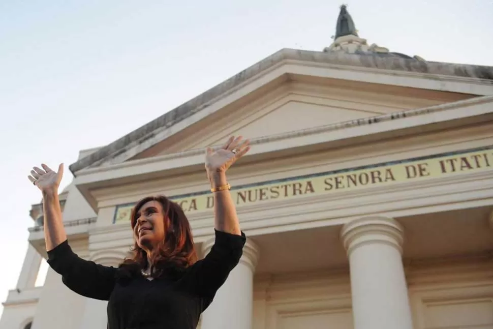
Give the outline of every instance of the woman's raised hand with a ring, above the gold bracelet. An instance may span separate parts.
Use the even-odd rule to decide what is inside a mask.
[[[214,175],[224,174],[226,170],[239,158],[250,151],[250,141],[243,140],[243,137],[231,136],[223,146],[213,149],[207,147],[205,155],[205,168],[209,176],[209,180]]]

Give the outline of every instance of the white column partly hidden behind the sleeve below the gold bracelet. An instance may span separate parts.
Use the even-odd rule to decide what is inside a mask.
[[[213,244],[214,239],[204,243],[204,255]],[[238,265],[202,313],[201,329],[252,329],[253,276],[258,253],[255,243],[247,239]]]

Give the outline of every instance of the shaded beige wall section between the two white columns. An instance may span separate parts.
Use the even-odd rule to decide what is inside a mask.
[[[256,278],[254,329],[352,329],[349,273]]]

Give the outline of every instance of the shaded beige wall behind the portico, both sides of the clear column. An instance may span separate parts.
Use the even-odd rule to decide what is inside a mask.
[[[493,263],[408,267],[415,329],[493,329]],[[352,329],[349,273],[257,277],[254,329]]]

